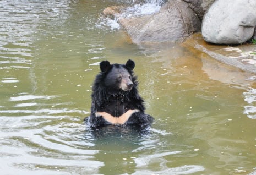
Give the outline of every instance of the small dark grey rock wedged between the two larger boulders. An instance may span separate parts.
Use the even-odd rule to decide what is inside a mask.
[[[200,20],[203,19],[203,16],[206,10],[214,3],[215,0],[183,0],[188,3],[189,8],[194,10],[198,15]]]

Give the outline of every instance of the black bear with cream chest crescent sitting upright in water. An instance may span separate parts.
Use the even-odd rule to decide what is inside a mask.
[[[137,124],[141,127],[152,123],[153,118],[145,114],[144,100],[140,97],[135,63],[100,63],[101,72],[96,75],[91,94],[91,114],[86,118],[91,127],[108,124]]]

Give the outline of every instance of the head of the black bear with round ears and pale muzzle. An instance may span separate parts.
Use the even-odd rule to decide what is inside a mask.
[[[100,70],[105,74],[104,85],[110,91],[129,91],[134,86],[133,68],[135,63],[128,60],[126,64],[110,64],[108,61],[100,63]]]

